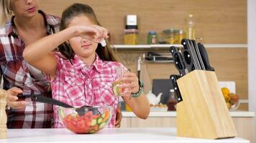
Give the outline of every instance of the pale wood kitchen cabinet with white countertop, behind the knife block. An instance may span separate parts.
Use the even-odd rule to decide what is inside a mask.
[[[255,112],[229,112],[237,129],[237,137],[253,141]],[[176,127],[176,112],[150,112],[147,119],[139,119],[132,112],[122,112],[121,127]]]

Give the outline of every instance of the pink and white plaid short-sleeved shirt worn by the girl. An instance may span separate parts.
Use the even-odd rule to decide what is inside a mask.
[[[122,64],[116,61],[102,61],[98,55],[91,66],[87,66],[79,56],[65,60],[60,53],[55,54],[58,59],[55,79],[51,82],[52,98],[75,107],[83,105],[114,107],[114,112],[107,127],[115,127],[118,97],[112,91],[112,83],[118,75],[114,71],[116,66]],[[49,77],[48,77],[49,79]],[[53,106],[53,127],[63,127],[58,118],[58,107]]]

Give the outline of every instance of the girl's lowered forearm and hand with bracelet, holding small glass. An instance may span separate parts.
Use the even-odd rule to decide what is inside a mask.
[[[120,80],[128,81],[129,84],[124,84],[122,87],[129,89],[127,94],[137,93],[140,90],[140,86],[138,84],[138,78],[134,73],[125,73],[124,77]],[[142,119],[147,119],[148,115],[150,114],[150,103],[148,102],[147,97],[142,92],[140,97],[123,97],[124,102],[128,104],[128,106],[132,109],[132,112]]]

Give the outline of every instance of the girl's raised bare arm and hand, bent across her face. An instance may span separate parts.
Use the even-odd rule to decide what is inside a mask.
[[[81,34],[93,33],[94,39],[99,39],[104,36],[104,31],[96,29],[96,26],[70,26],[56,34],[45,36],[44,38],[35,41],[26,46],[23,51],[24,59],[35,68],[40,69],[49,74],[50,77],[55,76],[57,68],[57,59],[52,55],[52,50],[55,49],[64,41],[68,41],[74,36],[81,36]]]

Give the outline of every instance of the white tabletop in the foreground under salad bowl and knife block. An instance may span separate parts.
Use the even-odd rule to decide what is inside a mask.
[[[196,139],[176,137],[175,128],[105,128],[95,134],[73,134],[67,129],[9,129],[8,139],[0,139],[1,143],[249,143],[239,137],[230,139]]]

